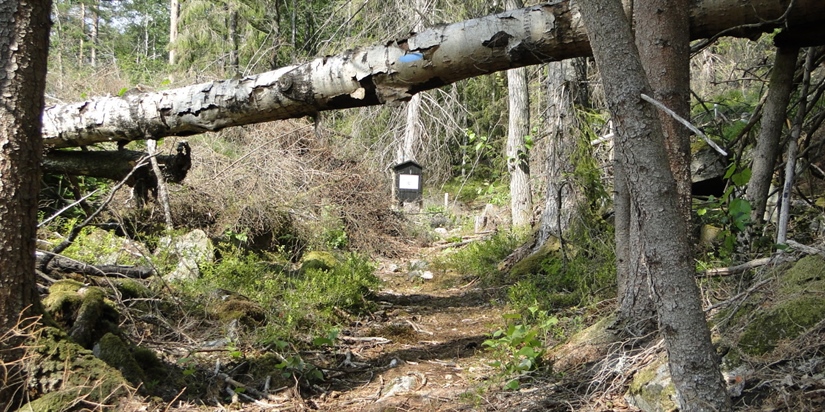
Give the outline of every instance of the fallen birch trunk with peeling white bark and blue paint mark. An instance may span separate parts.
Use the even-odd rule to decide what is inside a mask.
[[[691,38],[757,37],[778,27],[805,37],[806,27],[823,23],[822,0],[701,0],[691,10]],[[59,148],[187,136],[406,101],[470,77],[590,53],[578,6],[541,4],[241,79],[51,106],[43,138]]]

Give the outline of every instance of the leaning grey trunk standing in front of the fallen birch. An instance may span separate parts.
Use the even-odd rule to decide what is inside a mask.
[[[619,0],[581,1],[593,56],[616,123],[616,151],[639,214],[642,262],[651,286],[680,410],[730,411],[731,404],[711,345],[694,280],[687,225],[651,95]],[[661,10],[670,12],[669,7]],[[647,29],[646,25],[637,30]]]

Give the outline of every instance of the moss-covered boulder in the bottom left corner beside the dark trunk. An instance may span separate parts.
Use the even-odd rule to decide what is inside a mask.
[[[29,394],[34,401],[21,411],[65,411],[79,398],[109,403],[132,392],[117,369],[69,339],[62,330],[45,327],[29,346],[26,362]]]

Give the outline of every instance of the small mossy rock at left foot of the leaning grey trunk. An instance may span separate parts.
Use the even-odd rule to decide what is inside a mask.
[[[661,356],[633,376],[625,399],[646,412],[679,410],[676,405],[676,386],[670,378],[667,357]]]

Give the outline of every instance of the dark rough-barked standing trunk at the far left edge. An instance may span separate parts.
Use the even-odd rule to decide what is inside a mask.
[[[0,1],[0,333],[39,314],[34,252],[51,1]],[[18,382],[20,342],[0,340],[0,405]],[[9,370],[11,368],[11,370]]]

